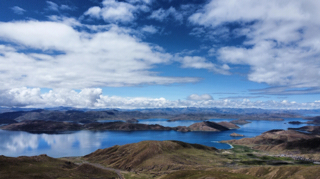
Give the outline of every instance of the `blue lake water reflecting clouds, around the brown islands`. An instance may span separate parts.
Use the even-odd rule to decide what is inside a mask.
[[[174,121],[167,119],[143,119],[139,123],[160,124],[164,126],[189,126],[200,121]],[[210,119],[210,121],[231,121],[234,119]],[[220,140],[241,139],[243,137],[229,136],[232,132],[253,137],[271,129],[287,129],[288,127],[301,127],[307,124],[288,124],[290,121],[306,122],[301,118],[285,118],[284,121],[256,121],[239,125],[240,129],[232,129],[222,132],[178,132],[178,131],[74,131],[57,134],[34,134],[22,131],[0,130],[0,155],[5,156],[32,156],[47,154],[51,157],[82,156],[99,148],[107,148],[114,145],[124,145],[142,140],[180,140],[188,143],[198,143],[220,149],[228,149],[230,146],[217,143]],[[284,124],[286,123],[286,124]]]

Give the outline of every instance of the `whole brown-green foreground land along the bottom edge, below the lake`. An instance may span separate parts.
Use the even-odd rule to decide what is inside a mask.
[[[239,145],[218,150],[181,141],[141,141],[62,159],[0,156],[0,166],[0,179],[319,179],[320,171],[308,161]]]

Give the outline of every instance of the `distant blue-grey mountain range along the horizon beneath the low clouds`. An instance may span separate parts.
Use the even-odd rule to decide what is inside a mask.
[[[56,108],[55,108],[56,109]],[[142,111],[84,111],[80,109],[66,110],[70,108],[59,107],[60,110],[35,109],[31,111],[12,111],[0,113],[0,122],[11,119],[12,123],[23,120],[46,120],[46,121],[73,121],[73,122],[94,122],[97,120],[123,120],[128,119],[150,119],[165,118],[175,120],[199,120],[204,121],[212,118],[234,118],[243,120],[283,120],[282,118],[300,118],[295,113],[275,113],[260,111],[246,113],[248,109],[222,110],[220,108],[161,108]],[[231,108],[230,108],[231,109]],[[13,121],[15,120],[15,121]],[[8,123],[2,123],[8,124]]]

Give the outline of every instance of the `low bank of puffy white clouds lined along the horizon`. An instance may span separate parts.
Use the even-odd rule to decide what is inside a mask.
[[[190,95],[187,100],[167,100],[147,97],[118,97],[102,94],[102,89],[88,88],[77,92],[72,89],[52,89],[41,93],[39,88],[15,88],[0,91],[0,106],[49,107],[72,106],[87,108],[165,108],[165,107],[231,107],[263,109],[319,109],[320,100],[311,103],[294,101],[250,101],[250,99],[213,100],[209,94]]]

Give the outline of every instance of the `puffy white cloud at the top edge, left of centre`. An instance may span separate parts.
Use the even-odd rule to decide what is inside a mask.
[[[106,22],[131,22],[134,20],[135,13],[138,11],[148,11],[148,7],[144,4],[130,4],[119,2],[116,0],[104,0],[102,8],[94,6],[84,12],[84,15],[92,18],[102,18]]]

